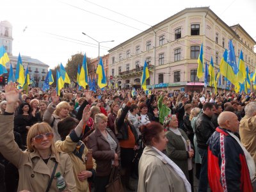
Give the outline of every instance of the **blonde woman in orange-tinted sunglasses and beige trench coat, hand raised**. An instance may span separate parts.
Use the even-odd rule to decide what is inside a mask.
[[[15,83],[5,86],[6,111],[0,115],[0,152],[19,169],[18,191],[58,191],[56,179],[60,172],[66,182],[66,191],[76,191],[72,162],[68,154],[57,152],[51,127],[46,123],[33,125],[28,132],[28,150],[22,152],[13,140],[13,112],[19,99]],[[52,174],[56,166],[56,172]],[[54,177],[53,177],[54,178]]]

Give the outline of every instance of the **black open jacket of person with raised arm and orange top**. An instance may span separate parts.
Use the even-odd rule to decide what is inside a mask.
[[[129,120],[125,120],[125,116],[127,115],[129,109],[130,109],[129,106],[125,106],[125,108],[122,110],[120,117],[116,118],[115,120],[115,129],[118,131],[118,133],[116,134],[116,138],[118,138],[118,140],[129,140],[129,136],[128,136],[128,125],[129,125],[131,127],[131,131],[134,134],[134,138],[136,141],[136,143],[134,144],[138,144],[139,136],[135,127],[131,124],[131,122],[129,122]]]

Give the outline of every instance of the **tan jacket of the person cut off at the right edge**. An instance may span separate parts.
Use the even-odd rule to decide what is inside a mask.
[[[244,116],[240,121],[241,143],[253,157],[256,164],[256,116]]]

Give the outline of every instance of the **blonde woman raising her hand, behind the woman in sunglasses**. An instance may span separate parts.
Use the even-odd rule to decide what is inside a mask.
[[[61,140],[60,134],[58,133],[58,122],[61,119],[66,118],[69,113],[70,106],[67,101],[60,101],[60,97],[56,92],[51,95],[52,103],[47,107],[43,120],[51,125],[54,133],[54,141]]]

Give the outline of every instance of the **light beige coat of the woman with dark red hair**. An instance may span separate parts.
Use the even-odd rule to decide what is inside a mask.
[[[183,180],[152,147],[145,147],[139,163],[138,192],[186,192]]]

